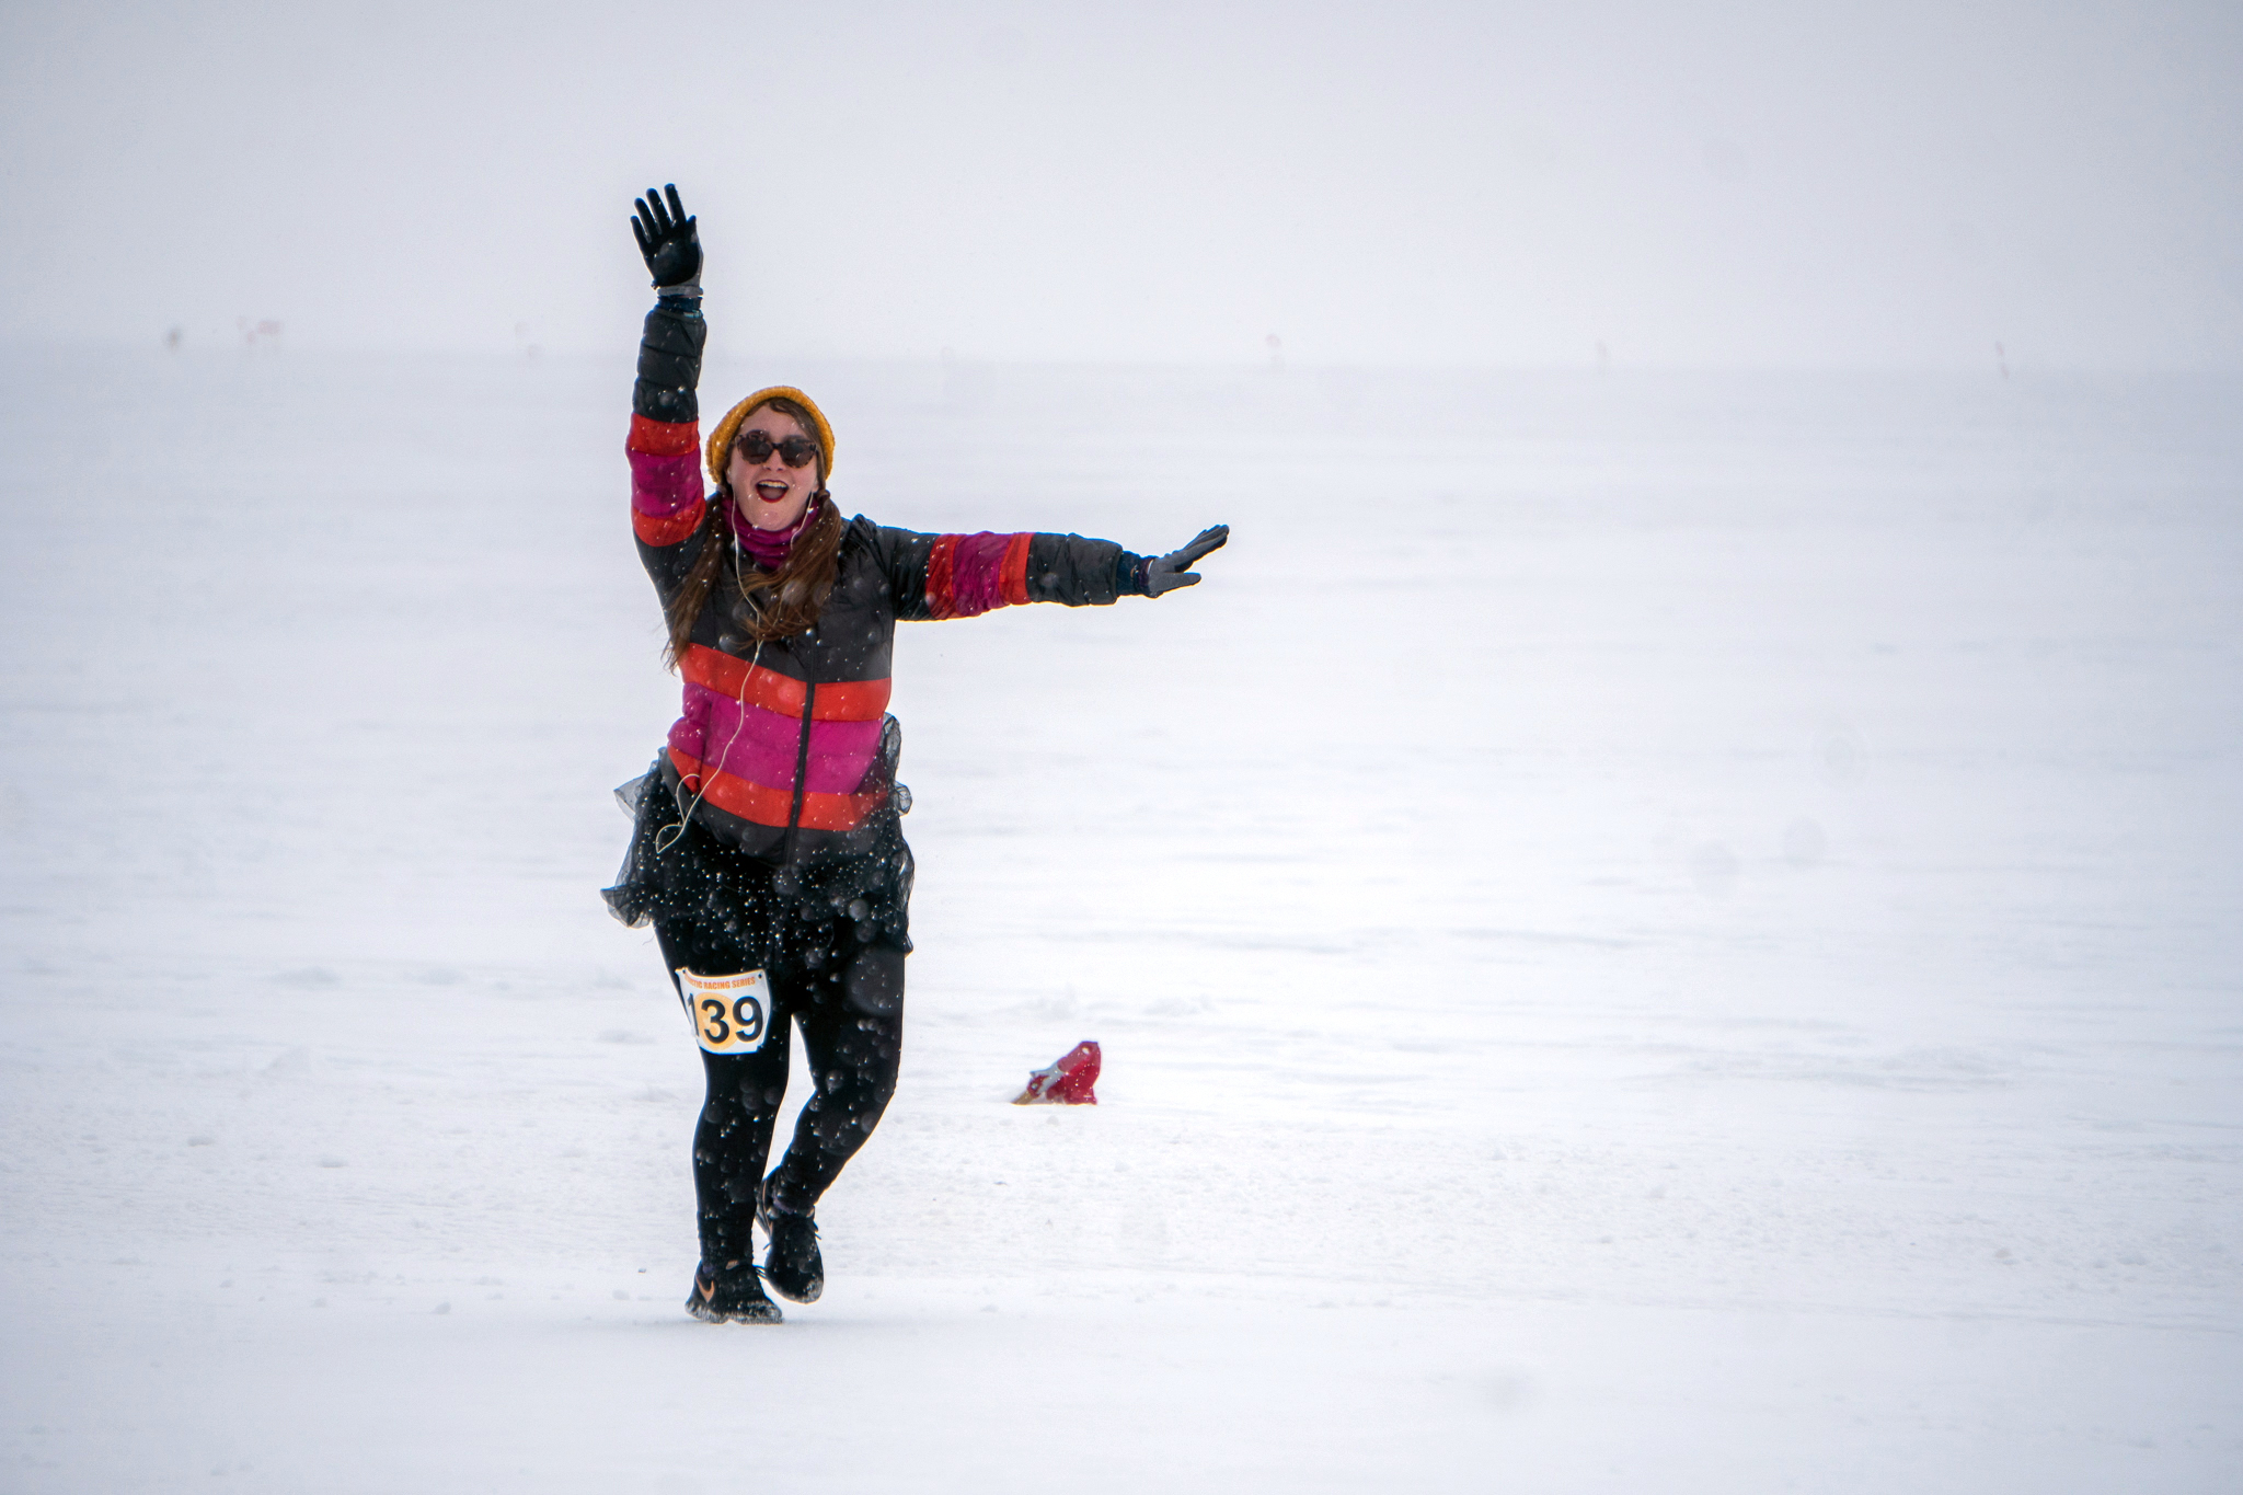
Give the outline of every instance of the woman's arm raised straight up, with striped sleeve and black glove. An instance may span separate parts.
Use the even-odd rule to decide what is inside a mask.
[[[639,336],[639,377],[630,386],[630,527],[639,545],[666,551],[700,529],[707,495],[700,480],[700,354],[709,325],[700,316],[700,231],[677,188],[668,202],[653,188],[635,204],[630,231],[655,278],[655,309]],[[648,558],[653,565],[655,558]]]

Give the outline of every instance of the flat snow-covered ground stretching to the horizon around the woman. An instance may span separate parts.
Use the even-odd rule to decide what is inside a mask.
[[[628,350],[0,359],[0,1486],[2236,1488],[2243,381],[778,377],[1234,540],[904,630],[904,1083],[718,1329]]]

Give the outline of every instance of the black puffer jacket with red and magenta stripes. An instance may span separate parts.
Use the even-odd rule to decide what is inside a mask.
[[[630,522],[664,612],[724,522],[702,529],[718,495],[702,489],[691,381],[700,332],[698,309],[682,303],[648,314],[626,444]],[[680,368],[686,354],[691,368]],[[758,858],[870,852],[895,816],[899,733],[886,715],[895,623],[971,619],[1014,603],[1104,605],[1142,589],[1142,569],[1139,556],[1110,540],[931,536],[857,516],[841,536],[825,614],[805,634],[760,648],[742,641],[731,623],[738,587],[711,587],[680,659],[684,711],[671,726],[664,780],[700,796],[693,814],[718,841]]]

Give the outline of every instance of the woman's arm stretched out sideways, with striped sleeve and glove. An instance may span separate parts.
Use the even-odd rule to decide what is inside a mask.
[[[1200,581],[1191,565],[1222,547],[1229,524],[1202,529],[1166,556],[1137,556],[1113,540],[1043,533],[926,536],[866,529],[899,619],[973,619],[1016,603],[1104,607],[1117,596],[1160,596]]]

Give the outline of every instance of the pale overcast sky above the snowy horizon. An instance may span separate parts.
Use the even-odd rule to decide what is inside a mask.
[[[0,336],[2243,368],[2243,4],[0,11]],[[527,327],[527,334],[518,334]]]

